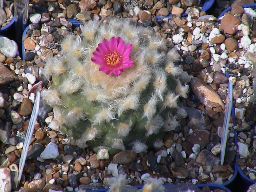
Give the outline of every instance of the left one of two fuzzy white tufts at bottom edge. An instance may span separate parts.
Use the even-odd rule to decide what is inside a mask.
[[[121,186],[127,185],[126,174],[119,174],[119,176],[108,178],[107,183],[110,185],[109,192],[121,192]]]

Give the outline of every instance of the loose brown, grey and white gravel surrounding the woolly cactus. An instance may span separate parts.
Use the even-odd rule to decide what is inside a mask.
[[[5,181],[9,178],[14,180],[17,174],[35,100],[33,93],[27,98],[28,90],[39,81],[43,81],[45,88],[50,86],[43,76],[46,57],[58,54],[61,49],[59,43],[67,34],[80,34],[79,27],[72,28],[66,18],[107,22],[108,17],[131,18],[152,28],[156,36],[163,37],[170,47],[178,49],[182,58],[179,65],[190,80],[189,96],[180,100],[184,106],[180,109],[183,115],[180,126],[168,132],[152,150],[140,154],[124,151],[109,160],[97,160],[95,152],[78,148],[75,139],[49,128],[53,112],[51,107],[41,103],[24,174],[17,190],[100,189],[109,187],[108,178],[121,173],[127,174],[130,185],[141,185],[149,176],[162,177],[165,184],[223,184],[232,179],[237,152],[248,154],[238,163],[246,171],[245,174],[255,180],[254,171],[247,168],[254,168],[256,164],[255,149],[249,147],[250,153],[244,152],[247,149],[244,145],[256,146],[253,127],[255,108],[251,102],[254,99],[253,68],[256,64],[256,12],[243,9],[239,1],[236,2],[231,13],[222,18],[221,24],[217,16],[199,12],[197,8],[188,8],[188,17],[165,18],[159,24],[155,18],[157,14],[175,14],[169,4],[166,7],[162,1],[151,2],[151,7],[134,5],[128,11],[126,1],[124,6],[106,0],[31,3],[32,24],[23,37],[24,60],[20,57],[6,58],[0,53],[0,173],[5,175]],[[176,2],[177,6],[179,3]],[[5,50],[1,52],[5,54]],[[229,79],[225,76],[226,71]],[[234,126],[233,119],[230,120],[225,163],[221,166],[219,136],[222,133],[228,80],[233,83],[237,125]],[[202,92],[205,94],[202,95]],[[239,131],[239,150],[235,146],[235,129]],[[49,152],[55,159],[47,159]],[[5,181],[0,181],[0,185]]]

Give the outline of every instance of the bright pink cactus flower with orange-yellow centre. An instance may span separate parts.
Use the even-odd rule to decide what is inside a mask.
[[[133,61],[130,60],[132,47],[132,44],[125,45],[121,37],[104,39],[92,53],[94,57],[91,60],[100,65],[99,71],[119,76],[124,69],[133,65]]]

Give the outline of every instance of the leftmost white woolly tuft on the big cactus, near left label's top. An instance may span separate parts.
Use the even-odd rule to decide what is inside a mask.
[[[55,89],[43,89],[41,92],[42,99],[51,107],[62,104],[59,92]]]

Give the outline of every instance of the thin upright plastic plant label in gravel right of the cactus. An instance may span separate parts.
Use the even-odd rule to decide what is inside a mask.
[[[222,137],[221,137],[221,152],[220,152],[220,164],[221,165],[224,164],[224,157],[225,157],[225,151],[226,151],[226,145],[227,145],[227,139],[228,139],[228,127],[229,127],[229,122],[230,122],[232,102],[233,102],[233,85],[232,85],[232,81],[229,81],[228,97],[227,97],[224,123],[223,123],[223,131],[222,131]]]

